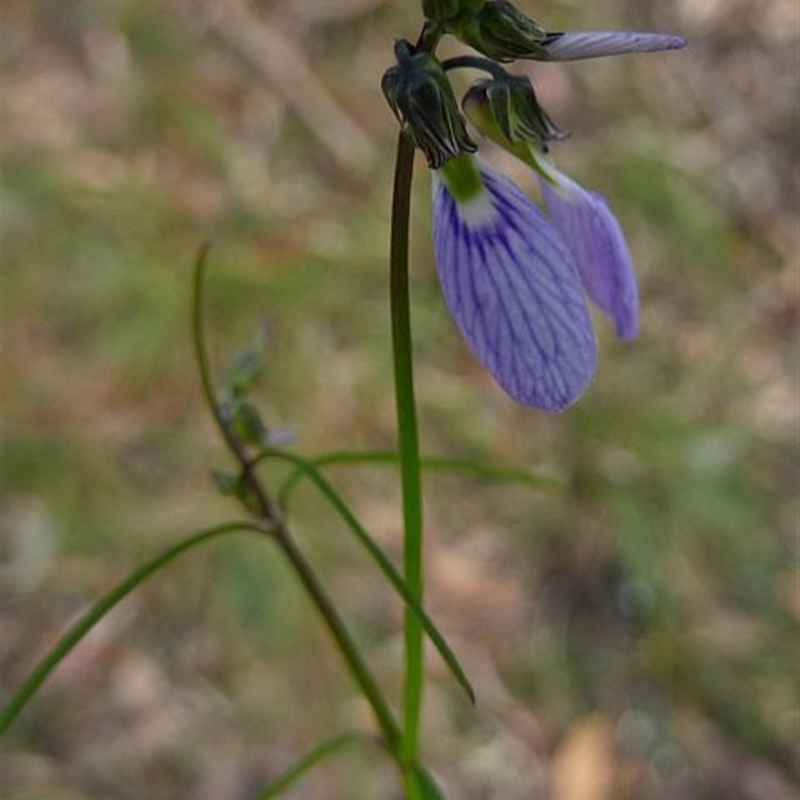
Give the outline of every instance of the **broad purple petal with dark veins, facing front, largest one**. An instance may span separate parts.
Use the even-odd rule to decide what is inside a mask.
[[[445,300],[513,399],[562,411],[591,381],[597,358],[578,269],[531,199],[479,167],[484,189],[466,202],[454,200],[434,173],[434,249]]]

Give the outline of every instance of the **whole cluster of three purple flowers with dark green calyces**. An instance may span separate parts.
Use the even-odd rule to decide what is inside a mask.
[[[617,31],[548,32],[509,0],[423,0],[420,50],[395,48],[383,89],[403,129],[433,170],[434,251],[450,312],[478,359],[515,400],[561,411],[595,371],[587,295],[630,339],[638,328],[638,288],[619,222],[598,193],[561,173],[549,142],[565,138],[541,108],[527,77],[498,62],[571,61],[683,47],[677,36]],[[489,58],[439,63],[429,52],[452,34]],[[542,211],[512,181],[472,153],[446,72],[489,73],[463,109],[484,135],[529,164]]]

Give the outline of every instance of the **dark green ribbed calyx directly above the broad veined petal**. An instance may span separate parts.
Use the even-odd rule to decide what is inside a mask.
[[[439,62],[430,53],[414,53],[406,41],[397,42],[395,55],[397,65],[386,70],[381,88],[428,166],[438,169],[454,156],[475,152]]]

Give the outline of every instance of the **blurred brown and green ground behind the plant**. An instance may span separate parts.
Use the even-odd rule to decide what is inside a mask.
[[[379,91],[406,0],[2,5],[2,690],[168,543],[236,515],[189,338],[210,239],[219,365],[267,331],[258,401],[317,454],[394,445]],[[412,241],[423,449],[525,467],[430,474],[426,751],[459,800],[784,800],[798,764],[797,97],[792,0],[577,0],[550,29],[688,50],[519,67],[560,165],[629,234],[642,332],[563,416],[514,406],[444,310],[419,163]],[[446,45],[443,52],[455,51]],[[497,158],[524,185],[528,176]],[[275,473],[276,476],[278,473]],[[393,555],[388,467],[331,478]],[[321,501],[294,527],[390,692],[400,609]],[[277,551],[209,545],[114,611],[4,743],[8,800],[250,798],[371,729]],[[354,748],[287,797],[396,796]]]

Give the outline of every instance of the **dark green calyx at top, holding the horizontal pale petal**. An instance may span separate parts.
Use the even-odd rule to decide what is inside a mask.
[[[488,0],[477,14],[458,20],[448,31],[494,61],[547,56],[547,31],[508,0]]]

